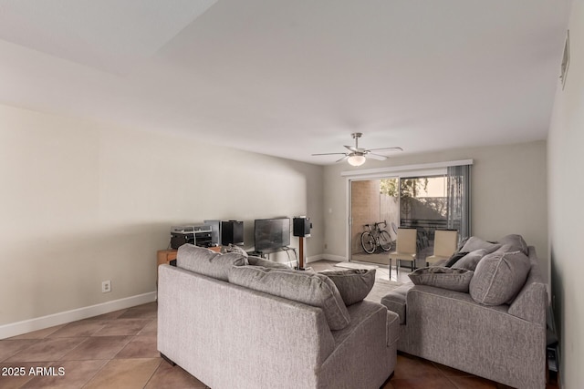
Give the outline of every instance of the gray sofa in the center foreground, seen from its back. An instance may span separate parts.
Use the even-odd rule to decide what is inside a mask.
[[[332,331],[320,307],[229,282],[231,268],[242,268],[235,275],[243,276],[265,268],[248,266],[236,253],[185,246],[177,267],[159,267],[158,350],[203,384],[361,389],[379,388],[392,374],[398,316],[383,305],[343,306],[348,324]]]

